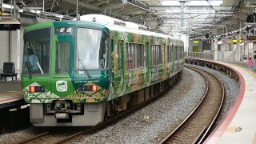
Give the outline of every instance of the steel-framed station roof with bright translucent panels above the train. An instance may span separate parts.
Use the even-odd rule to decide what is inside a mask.
[[[14,1],[3,2],[10,5]],[[256,7],[254,0],[26,0],[22,2],[26,6],[21,14],[26,16],[66,20],[73,19],[77,13],[106,14],[125,21],[143,23],[154,31],[187,34],[191,38],[202,37],[207,33],[218,35],[238,30],[245,26],[247,16],[253,14]]]

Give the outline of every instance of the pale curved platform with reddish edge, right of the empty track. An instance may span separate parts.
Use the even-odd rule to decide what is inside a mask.
[[[256,71],[245,62],[218,62],[238,72],[240,92],[226,118],[204,143],[256,143]]]

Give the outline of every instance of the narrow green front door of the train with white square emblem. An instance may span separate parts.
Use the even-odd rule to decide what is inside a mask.
[[[54,42],[51,57],[51,90],[59,97],[66,97],[74,91],[72,84],[72,68],[74,50],[74,38],[71,36],[58,36]]]

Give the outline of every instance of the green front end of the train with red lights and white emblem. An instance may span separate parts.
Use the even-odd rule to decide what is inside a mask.
[[[22,91],[34,126],[95,126],[109,94],[109,30],[47,22],[24,32]]]

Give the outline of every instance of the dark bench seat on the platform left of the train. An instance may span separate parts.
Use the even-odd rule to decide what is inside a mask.
[[[14,77],[15,77],[17,81],[17,75],[18,73],[15,72],[14,62],[3,62],[3,69],[0,70],[1,82],[2,82],[2,78],[5,78],[5,81],[6,81],[7,77],[11,77],[12,81],[14,81]]]

